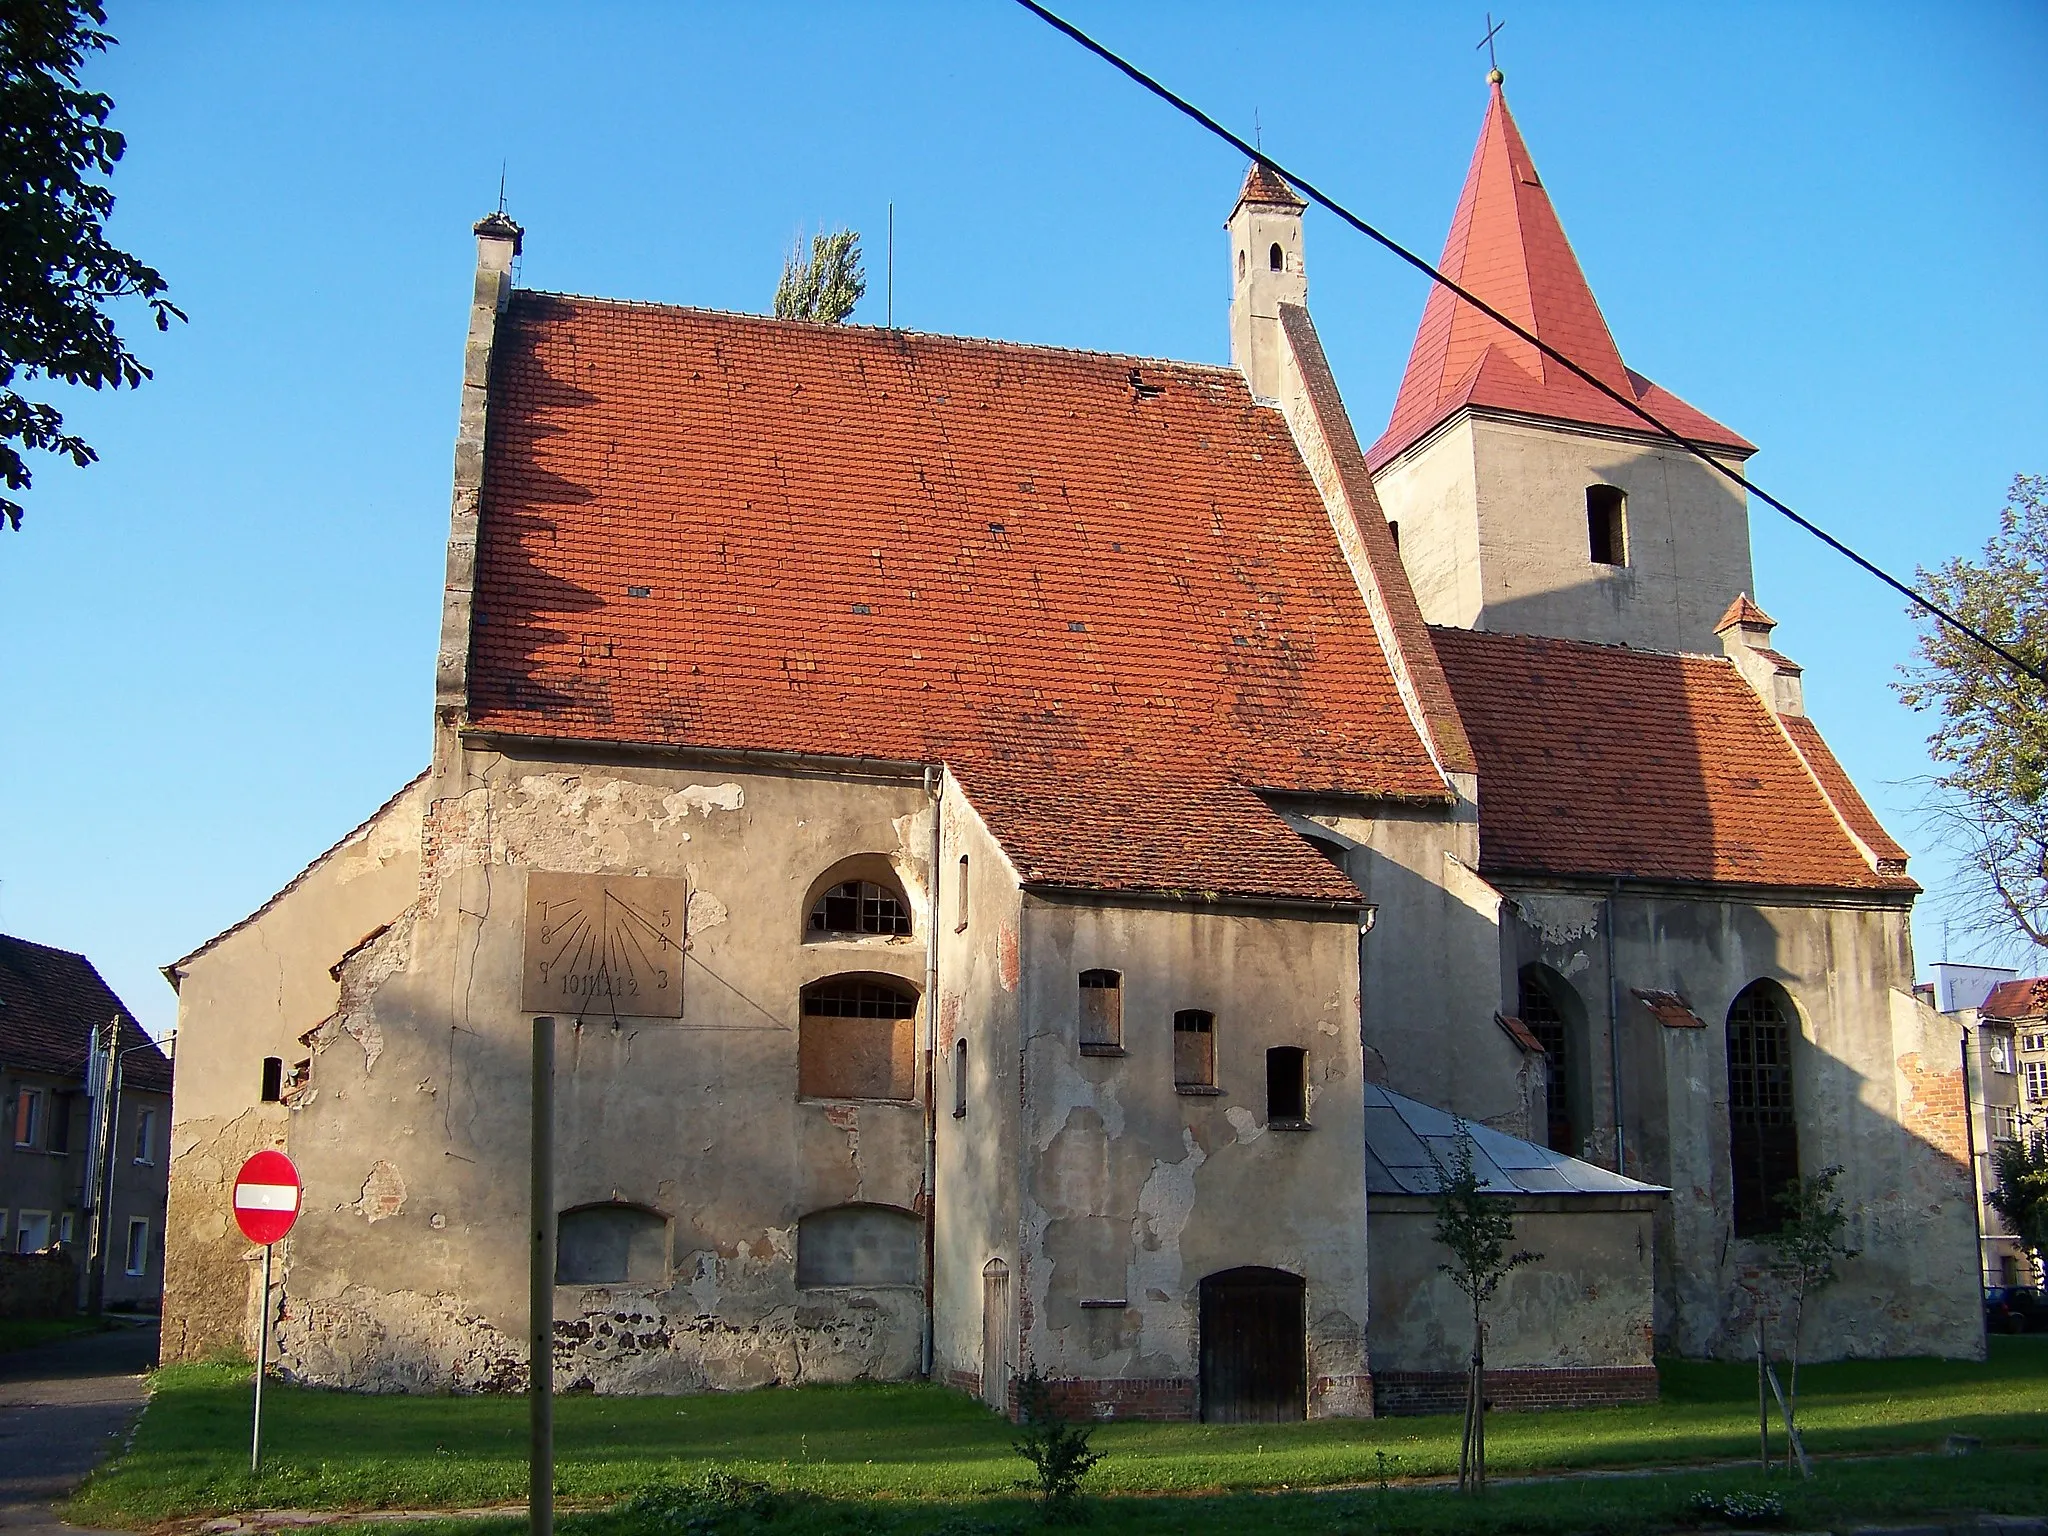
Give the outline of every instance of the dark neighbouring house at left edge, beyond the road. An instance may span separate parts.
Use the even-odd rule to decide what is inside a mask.
[[[0,934],[0,1251],[68,1245],[82,1288],[90,1251],[98,1094],[119,1020],[119,1114],[106,1221],[111,1307],[156,1307],[164,1288],[170,1061],[92,961]],[[84,1294],[82,1294],[84,1300]]]

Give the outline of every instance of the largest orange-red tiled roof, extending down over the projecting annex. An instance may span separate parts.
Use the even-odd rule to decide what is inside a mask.
[[[952,764],[1032,879],[1356,901],[1247,786],[1442,801],[1229,369],[518,293],[471,727]]]

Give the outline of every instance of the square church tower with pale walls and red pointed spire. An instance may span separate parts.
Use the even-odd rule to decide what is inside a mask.
[[[1489,82],[1440,270],[1739,467],[1749,442],[1622,362]],[[1432,623],[1718,653],[1714,625],[1753,590],[1739,485],[1448,289],[1366,459]]]

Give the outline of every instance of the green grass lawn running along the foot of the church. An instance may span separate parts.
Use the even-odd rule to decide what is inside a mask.
[[[2048,1339],[2001,1337],[1991,1343],[1987,1364],[1892,1360],[1802,1372],[1800,1419],[1806,1448],[1817,1456],[1931,1450],[1950,1434],[1978,1436],[1987,1446],[1985,1454],[1968,1458],[1837,1464],[1825,1481],[1847,1487],[1896,1475],[1907,1483],[1935,1479],[1944,1487],[1960,1487],[1958,1479],[1997,1483],[2011,1468],[2021,1468],[2023,1487],[2048,1483],[2048,1462],[2021,1450],[2048,1442]],[[1698,1362],[1667,1362],[1661,1370],[1663,1401],[1655,1407],[1491,1417],[1487,1444],[1493,1473],[1675,1466],[1755,1454],[1751,1370]],[[272,1386],[264,1395],[264,1473],[250,1477],[248,1391],[248,1366],[174,1366],[158,1372],[133,1446],[84,1487],[70,1518],[147,1524],[256,1507],[463,1507],[524,1497],[526,1405],[520,1397],[360,1397]],[[559,1399],[555,1413],[557,1489],[569,1505],[598,1505],[651,1483],[682,1483],[723,1468],[772,1489],[836,1501],[829,1507],[842,1513],[889,1509],[915,1513],[920,1522],[926,1516],[938,1524],[969,1520],[971,1528],[975,1520],[1008,1518],[1001,1516],[1001,1495],[1024,1470],[1024,1462],[1010,1452],[1014,1430],[1008,1423],[958,1393],[932,1386],[815,1386],[707,1397],[573,1395]],[[1458,1419],[1104,1423],[1094,1444],[1108,1452],[1108,1460],[1090,1475],[1090,1489],[1098,1493],[1376,1485],[1382,1477],[1399,1483],[1456,1470]],[[1896,1473],[1898,1466],[1911,1473]],[[1675,1491],[1669,1497],[1681,1499],[1683,1489],[1704,1487],[1700,1477],[1671,1483]],[[1628,1487],[1620,1481],[1571,1487],[1571,1507],[1581,1520],[1573,1530],[1591,1528],[1583,1516],[1599,1499],[1612,1495],[1632,1509],[1651,1497],[1645,1491],[1649,1479],[1630,1479]],[[1333,1516],[1323,1505],[1331,1497],[1354,1499],[1358,1522],[1368,1522],[1378,1507],[1374,1499],[1380,1499],[1376,1487],[1325,1495],[1313,1507],[1305,1505],[1303,1520],[1311,1524],[1300,1530],[1372,1530],[1370,1522],[1329,1526]],[[1436,1495],[1403,1491],[1397,1497],[1409,1501],[1403,1507],[1419,1509]],[[1556,1489],[1499,1489],[1489,1507],[1511,1511],[1520,1501],[1540,1505],[1546,1497],[1554,1499]],[[1165,1501],[1165,1513],[1137,1507],[1157,1501],[1112,1503],[1120,1522],[1139,1522],[1128,1530],[1151,1530],[1149,1520],[1186,1528],[1186,1516],[1169,1513],[1171,1507],[1186,1509],[1184,1501]],[[1124,1503],[1133,1507],[1124,1509]],[[1204,1511],[1210,1507],[1249,1511],[1243,1520],[1253,1524],[1202,1524],[1204,1532],[1251,1530],[1257,1520],[1278,1518],[1272,1499],[1202,1505]],[[1884,1507],[1890,1507],[1888,1497]],[[1204,1513],[1204,1522],[1208,1518]],[[1313,1524],[1317,1520],[1325,1524]],[[905,1526],[915,1528],[915,1522]],[[1264,1528],[1288,1526],[1268,1522]]]

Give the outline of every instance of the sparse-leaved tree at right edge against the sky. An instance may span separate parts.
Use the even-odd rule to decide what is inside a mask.
[[[2030,662],[2048,659],[2048,477],[2015,475],[1980,561],[1921,569],[1919,590]],[[1948,625],[1921,621],[1901,698],[1939,719],[1927,813],[1958,854],[1952,901],[1987,938],[2048,948],[2048,698]]]

